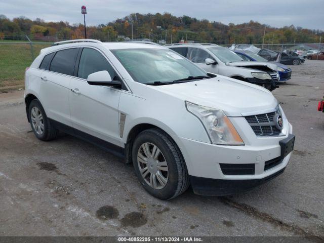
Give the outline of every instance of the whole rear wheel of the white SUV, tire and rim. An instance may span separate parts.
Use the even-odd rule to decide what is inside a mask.
[[[32,100],[28,111],[31,129],[38,139],[49,141],[56,138],[59,131],[51,124],[41,102]]]

